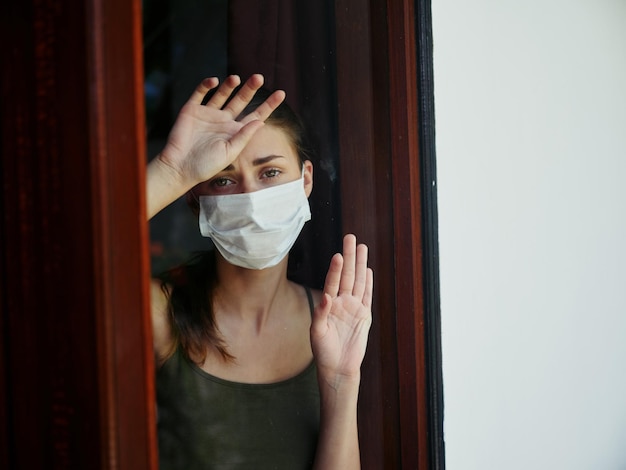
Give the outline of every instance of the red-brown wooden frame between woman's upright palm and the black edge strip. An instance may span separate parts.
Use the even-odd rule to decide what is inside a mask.
[[[360,400],[363,467],[427,469],[415,2],[336,2],[344,231],[370,246],[374,326]]]

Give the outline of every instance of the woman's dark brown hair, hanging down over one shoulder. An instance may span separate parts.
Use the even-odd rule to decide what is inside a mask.
[[[210,98],[210,93],[204,102]],[[259,89],[237,119],[240,120],[253,112],[270,94],[271,92],[264,88]],[[311,159],[312,151],[304,124],[285,102],[281,103],[265,122],[287,133],[301,163]],[[199,212],[197,200],[188,197],[187,203],[197,215]],[[159,278],[161,288],[169,301],[169,320],[175,347],[180,347],[188,359],[196,359],[199,365],[206,359],[207,345],[214,347],[224,360],[234,360],[215,324],[213,292],[218,281],[215,252],[197,253],[185,264],[166,271]]]

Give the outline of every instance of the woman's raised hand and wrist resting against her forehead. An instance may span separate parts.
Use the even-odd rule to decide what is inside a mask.
[[[240,83],[236,75],[229,76],[221,85],[217,78],[204,79],[183,106],[165,148],[148,166],[149,218],[232,163],[263,121],[285,99],[283,91],[275,91],[254,112],[237,121],[263,85],[263,76],[252,75],[228,101]],[[203,105],[207,92],[216,87],[211,99]]]

